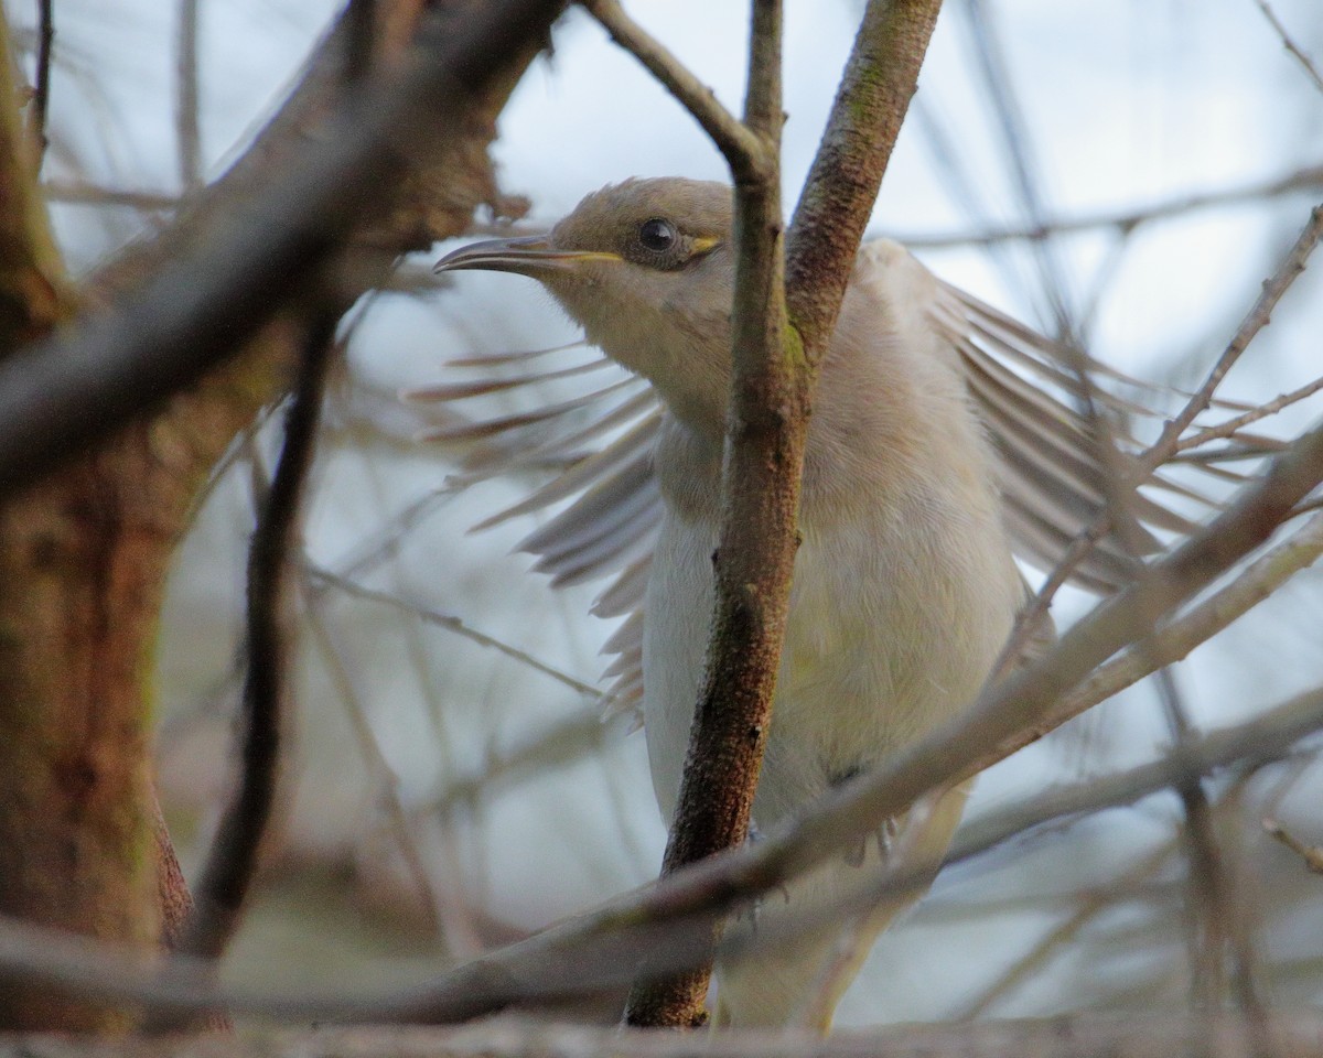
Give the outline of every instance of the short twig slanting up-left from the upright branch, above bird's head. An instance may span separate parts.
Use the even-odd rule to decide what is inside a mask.
[[[703,126],[721,151],[736,180],[759,180],[766,173],[769,144],[717,102],[712,89],[696,78],[660,41],[635,22],[617,0],[583,0],[583,8],[634,56]]]

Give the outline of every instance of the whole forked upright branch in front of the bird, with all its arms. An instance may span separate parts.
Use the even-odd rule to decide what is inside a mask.
[[[669,874],[747,834],[786,633],[814,366],[835,328],[941,0],[869,3],[795,214],[789,262],[779,200],[779,4],[753,5],[749,93],[736,126],[614,0],[586,3],[688,106],[736,181],[733,378],[716,606],[663,864]],[[654,984],[647,980],[656,975],[644,967],[627,1022],[701,1022],[709,972],[710,955],[692,972]]]

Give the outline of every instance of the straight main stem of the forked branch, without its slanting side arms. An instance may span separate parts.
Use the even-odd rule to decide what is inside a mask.
[[[732,159],[734,372],[714,557],[717,598],[663,875],[747,837],[786,635],[810,377],[786,327],[781,22],[779,0],[754,0],[744,124],[765,149],[761,165]],[[706,1020],[710,944],[718,931],[712,930],[706,957],[693,969],[635,985],[626,1009],[630,1025],[693,1026]]]

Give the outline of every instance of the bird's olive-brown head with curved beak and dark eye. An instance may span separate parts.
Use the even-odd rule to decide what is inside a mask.
[[[730,188],[627,180],[583,198],[545,235],[488,239],[437,262],[537,279],[613,360],[648,377],[671,411],[721,430],[730,376]]]

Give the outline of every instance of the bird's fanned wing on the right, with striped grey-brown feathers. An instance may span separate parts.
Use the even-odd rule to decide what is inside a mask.
[[[1192,532],[1216,510],[1225,483],[1242,480],[1222,462],[1191,463],[1179,477],[1146,468],[1140,434],[1155,439],[1184,394],[1072,352],[946,283],[930,319],[959,356],[992,444],[1012,546],[1031,565],[1054,569],[1082,533],[1105,529],[1123,507],[1130,529],[1103,532],[1070,574],[1081,587],[1113,591],[1131,579],[1136,558],[1164,546],[1159,533]],[[1224,456],[1273,447],[1241,432]]]

